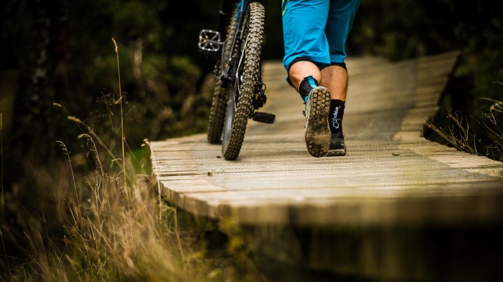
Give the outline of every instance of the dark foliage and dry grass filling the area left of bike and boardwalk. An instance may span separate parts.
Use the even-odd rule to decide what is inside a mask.
[[[150,173],[145,138],[206,127],[214,60],[196,41],[219,7],[180,4],[0,2],[2,280],[223,280],[233,259],[205,258],[207,227],[178,230],[174,208],[136,183]]]

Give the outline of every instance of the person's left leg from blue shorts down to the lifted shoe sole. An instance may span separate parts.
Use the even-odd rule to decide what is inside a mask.
[[[289,82],[306,103],[305,142],[307,151],[320,158],[327,153],[331,133],[328,125],[330,94],[318,86],[320,65],[329,65],[329,44],[325,35],[329,0],[284,0],[283,66]]]

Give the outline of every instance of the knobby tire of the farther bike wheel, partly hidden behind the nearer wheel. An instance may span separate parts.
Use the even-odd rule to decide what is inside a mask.
[[[232,45],[232,39],[236,34],[236,13],[237,6],[234,7],[231,19],[227,25],[227,35],[225,36],[225,54],[224,58],[229,58],[229,52]],[[223,122],[225,118],[225,107],[227,100],[227,91],[222,87],[222,63],[219,58],[216,62],[216,82],[212,99],[212,107],[209,110],[207,138],[210,144],[218,144],[222,140]]]

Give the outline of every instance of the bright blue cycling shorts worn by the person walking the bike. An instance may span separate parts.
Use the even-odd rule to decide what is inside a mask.
[[[283,0],[283,67],[311,61],[320,69],[343,65],[347,34],[360,0]]]

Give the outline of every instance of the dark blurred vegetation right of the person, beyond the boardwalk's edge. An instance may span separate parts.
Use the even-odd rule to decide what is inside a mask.
[[[503,100],[502,34],[503,1],[362,0],[348,50],[391,61],[459,50],[432,122],[444,133],[452,131],[458,140],[465,140],[469,129],[471,147],[477,153],[503,160],[495,149],[500,148],[501,138],[494,138],[502,116],[490,110],[495,100]],[[456,129],[455,120],[462,120],[464,130]],[[449,143],[433,130],[426,129],[424,135]]]

